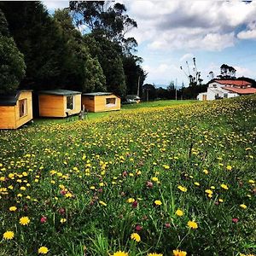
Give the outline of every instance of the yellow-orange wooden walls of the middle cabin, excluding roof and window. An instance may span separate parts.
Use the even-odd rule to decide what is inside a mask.
[[[39,95],[39,116],[66,117],[67,96]],[[81,111],[81,95],[74,95],[74,109],[68,113],[75,114]]]

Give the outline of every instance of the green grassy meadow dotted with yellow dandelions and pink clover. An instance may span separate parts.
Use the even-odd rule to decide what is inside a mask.
[[[143,104],[0,131],[0,255],[255,253],[256,96]]]

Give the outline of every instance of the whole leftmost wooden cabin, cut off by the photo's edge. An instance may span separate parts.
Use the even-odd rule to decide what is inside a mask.
[[[17,129],[32,118],[32,90],[0,96],[0,129]]]

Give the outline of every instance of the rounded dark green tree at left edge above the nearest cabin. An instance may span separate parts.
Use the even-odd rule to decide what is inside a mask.
[[[14,92],[25,75],[24,57],[9,36],[5,16],[0,9],[0,94]]]

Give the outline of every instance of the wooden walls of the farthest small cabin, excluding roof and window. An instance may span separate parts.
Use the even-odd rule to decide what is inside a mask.
[[[90,100],[93,98],[93,100]],[[115,106],[107,107],[106,99],[115,98]],[[108,96],[82,96],[82,105],[85,106],[85,109],[88,109],[90,112],[105,112],[112,110],[120,110],[121,108],[121,100],[118,96],[108,95]]]

